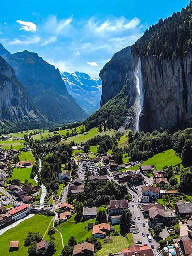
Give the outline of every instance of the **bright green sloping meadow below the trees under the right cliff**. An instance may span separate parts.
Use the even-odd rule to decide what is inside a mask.
[[[163,170],[164,166],[178,165],[182,167],[182,160],[176,155],[173,149],[168,149],[163,153],[154,155],[147,161],[144,161],[141,165],[155,165],[157,170]],[[131,167],[132,170],[139,169],[139,165]]]

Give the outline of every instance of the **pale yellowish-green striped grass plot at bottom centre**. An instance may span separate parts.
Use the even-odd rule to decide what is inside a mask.
[[[109,253],[118,253],[120,249],[125,249],[133,244],[133,239],[131,234],[127,234],[126,237],[114,236],[112,237],[112,243],[103,244],[101,240],[102,248],[97,252],[98,256],[108,255]]]

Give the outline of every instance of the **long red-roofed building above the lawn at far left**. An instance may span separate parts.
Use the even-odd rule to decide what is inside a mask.
[[[9,210],[7,213],[9,213],[12,216],[13,221],[17,221],[27,216],[29,212],[30,212],[30,205],[22,204],[16,208],[12,208],[12,210]]]

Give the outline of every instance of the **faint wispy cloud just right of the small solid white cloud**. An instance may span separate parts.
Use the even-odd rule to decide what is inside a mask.
[[[44,28],[51,34],[65,34],[69,30],[71,22],[72,16],[68,19],[58,20],[57,16],[52,15],[46,21]]]

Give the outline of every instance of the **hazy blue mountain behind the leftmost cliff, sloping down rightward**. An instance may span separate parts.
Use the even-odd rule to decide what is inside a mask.
[[[32,97],[34,105],[49,122],[60,124],[83,121],[87,114],[68,93],[58,69],[48,64],[37,53],[4,52],[6,61],[13,67],[21,83]]]

